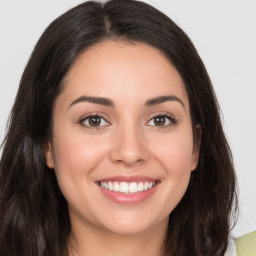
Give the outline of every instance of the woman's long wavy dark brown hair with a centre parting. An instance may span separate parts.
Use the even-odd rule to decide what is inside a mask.
[[[188,36],[154,7],[133,0],[80,4],[54,20],[36,44],[3,142],[0,254],[68,255],[67,202],[46,166],[44,146],[67,72],[82,52],[104,40],[149,44],[180,73],[193,129],[201,126],[201,147],[189,187],[170,214],[164,249],[172,256],[224,255],[236,210],[236,178],[211,81]]]

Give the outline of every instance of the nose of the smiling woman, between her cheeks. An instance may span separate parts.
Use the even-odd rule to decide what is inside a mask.
[[[136,127],[119,128],[113,138],[111,161],[125,166],[145,163],[149,158],[143,132]]]

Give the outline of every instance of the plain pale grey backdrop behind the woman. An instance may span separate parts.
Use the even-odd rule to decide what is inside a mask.
[[[43,30],[81,0],[0,0],[0,141],[29,55]],[[256,0],[148,0],[189,35],[212,79],[233,150],[240,218],[256,230]]]

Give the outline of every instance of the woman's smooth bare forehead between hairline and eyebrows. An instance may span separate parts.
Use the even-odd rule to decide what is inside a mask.
[[[175,94],[188,101],[182,78],[156,48],[144,43],[104,41],[86,49],[65,80],[62,96],[83,94],[133,102]]]

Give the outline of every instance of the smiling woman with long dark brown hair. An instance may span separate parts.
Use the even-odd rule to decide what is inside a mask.
[[[224,255],[235,174],[207,71],[138,1],[39,39],[0,162],[1,255]]]

